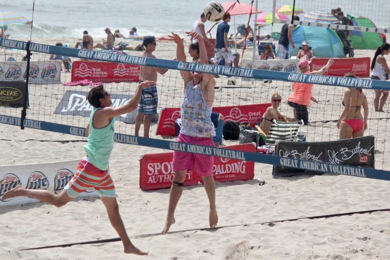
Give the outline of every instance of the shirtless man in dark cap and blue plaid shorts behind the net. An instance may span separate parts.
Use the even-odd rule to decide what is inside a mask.
[[[155,58],[152,54],[156,50],[156,38],[154,36],[145,36],[140,47],[145,47],[142,57]],[[150,80],[157,81],[157,72],[164,75],[168,69],[160,69],[153,67],[140,66],[139,83]],[[151,116],[157,114],[157,86],[150,85],[151,88],[142,90],[141,100],[138,105],[138,113],[135,116],[135,135],[139,135],[139,127],[143,119],[143,137],[149,137],[149,129],[151,124]]]

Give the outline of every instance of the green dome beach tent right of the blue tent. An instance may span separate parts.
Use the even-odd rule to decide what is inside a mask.
[[[352,21],[354,26],[377,28],[377,26],[367,17],[348,15],[348,18]],[[351,31],[351,34],[349,39],[352,40],[351,45],[355,49],[377,49],[383,44],[379,32]]]

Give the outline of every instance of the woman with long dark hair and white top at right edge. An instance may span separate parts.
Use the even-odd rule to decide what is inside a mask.
[[[389,53],[390,53],[389,43],[384,43],[380,47],[378,47],[377,51],[375,52],[373,61],[371,62],[371,71],[373,72],[373,74],[371,75],[371,79],[374,80],[389,79],[390,69],[384,57],[384,55],[388,55]],[[389,97],[389,91],[384,91],[384,90],[375,91],[374,108],[376,112],[385,112],[383,111],[383,107],[385,106],[388,97]],[[381,99],[381,103],[379,103],[380,99]]]

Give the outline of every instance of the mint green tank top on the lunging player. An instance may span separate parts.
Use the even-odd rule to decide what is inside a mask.
[[[102,108],[92,110],[89,118],[88,143],[84,145],[84,149],[88,154],[89,161],[96,168],[105,171],[108,169],[108,161],[114,147],[115,118],[104,128],[94,128],[94,115],[100,109]]]

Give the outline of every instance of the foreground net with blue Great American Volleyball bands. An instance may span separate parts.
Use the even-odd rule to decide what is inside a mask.
[[[315,161],[314,166],[296,163],[309,162],[307,159],[310,156],[307,156],[307,154],[306,156],[296,157],[297,160],[294,161],[291,158],[260,154],[245,149],[207,148],[207,146],[201,144],[179,145],[175,138],[178,133],[176,123],[179,123],[177,119],[180,118],[180,106],[184,98],[184,83],[180,71],[215,75],[213,111],[222,114],[225,123],[228,121],[237,122],[238,124],[248,123],[255,131],[256,125],[265,113],[266,108],[271,106],[271,97],[274,92],[277,92],[281,97],[281,105],[278,108],[280,113],[288,118],[293,118],[293,109],[287,105],[287,99],[292,93],[292,84],[314,84],[311,95],[315,97],[318,104],[312,103],[310,105],[309,124],[300,126],[300,130],[306,131],[307,141],[324,142],[325,144],[328,141],[338,139],[336,123],[344,110],[341,104],[344,90],[353,87],[363,89],[367,96],[370,110],[368,129],[365,131],[365,135],[375,136],[375,148],[372,147],[371,150],[372,154],[375,153],[375,167],[386,169],[386,158],[389,157],[389,151],[386,149],[389,138],[387,137],[387,125],[390,117],[387,116],[387,113],[376,113],[373,102],[374,90],[390,90],[390,84],[387,81],[298,74],[296,73],[297,66],[293,62],[287,66],[287,69],[281,71],[279,69],[265,71],[252,69],[250,65],[245,68],[226,67],[7,39],[0,39],[0,47],[2,47],[0,58],[1,124],[18,127],[23,125],[25,128],[85,136],[85,128],[89,123],[89,116],[92,111],[86,95],[92,88],[90,84],[96,83],[95,80],[87,80],[88,78],[96,77],[99,80],[110,81],[103,83],[103,85],[111,94],[112,106],[118,107],[130,102],[134,95],[138,82],[124,81],[138,80],[137,73],[139,73],[139,70],[137,69],[139,69],[139,66],[169,69],[163,75],[158,74],[157,76],[158,101],[156,102],[158,103],[158,115],[152,116],[149,138],[142,137],[143,125],[139,131],[140,136],[134,135],[134,121],[137,113],[134,111],[116,118],[115,141],[168,150],[183,150],[226,158],[245,159],[275,166],[288,165],[301,169],[308,169],[308,167],[312,169],[314,167],[321,172],[348,174],[350,171],[347,172],[347,170],[332,170],[337,161],[333,163]],[[29,55],[26,55],[26,48],[31,53],[30,58]],[[185,50],[187,48],[187,44],[185,44]],[[56,56],[62,57],[62,61],[53,60]],[[65,72],[67,67],[64,61],[66,62],[69,58],[72,61],[72,68],[69,68],[72,72]],[[29,64],[23,59],[29,60]],[[77,76],[84,80],[75,83],[79,79]],[[85,77],[83,78],[83,76]],[[27,87],[24,80],[28,81]],[[21,100],[23,102],[19,102]],[[388,104],[384,110],[389,111]],[[25,118],[23,115],[25,115]],[[217,126],[217,129],[221,130],[220,125]],[[239,142],[240,140],[237,139],[223,140],[224,145],[235,145]],[[349,151],[359,153],[361,149],[352,147]],[[352,169],[352,172],[361,169],[355,166],[342,167]],[[364,172],[366,177],[390,179],[390,175],[383,174],[387,173],[385,171],[367,168],[364,169]]]

